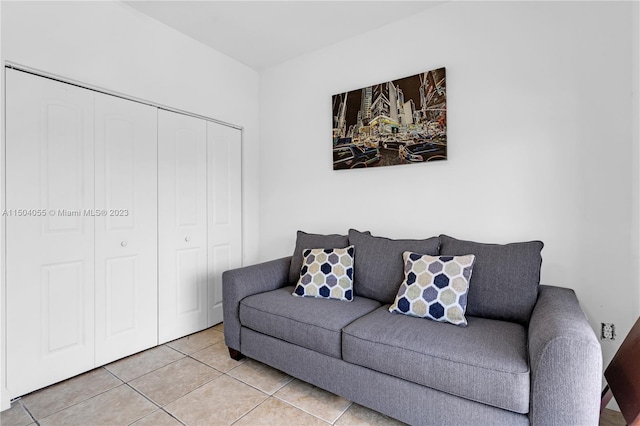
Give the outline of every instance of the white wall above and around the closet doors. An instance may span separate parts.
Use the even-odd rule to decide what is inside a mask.
[[[244,259],[257,259],[256,71],[120,2],[2,1],[1,7],[3,64],[11,61],[242,126]],[[4,77],[4,67],[0,73]]]

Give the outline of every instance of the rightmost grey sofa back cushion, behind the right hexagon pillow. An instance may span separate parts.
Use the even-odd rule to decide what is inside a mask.
[[[473,254],[467,315],[529,322],[538,298],[544,247],[541,241],[484,244],[440,235],[440,254]]]

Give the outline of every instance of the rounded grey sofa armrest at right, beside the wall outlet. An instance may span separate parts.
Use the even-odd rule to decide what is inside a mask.
[[[597,425],[600,343],[573,290],[540,286],[529,322],[532,425]]]

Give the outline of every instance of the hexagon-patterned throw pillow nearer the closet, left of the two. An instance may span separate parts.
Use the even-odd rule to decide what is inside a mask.
[[[294,296],[353,300],[353,246],[305,249]]]

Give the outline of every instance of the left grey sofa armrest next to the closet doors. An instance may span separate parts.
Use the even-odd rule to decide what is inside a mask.
[[[288,285],[290,265],[291,256],[223,272],[224,341],[229,348],[240,351],[240,301]]]

